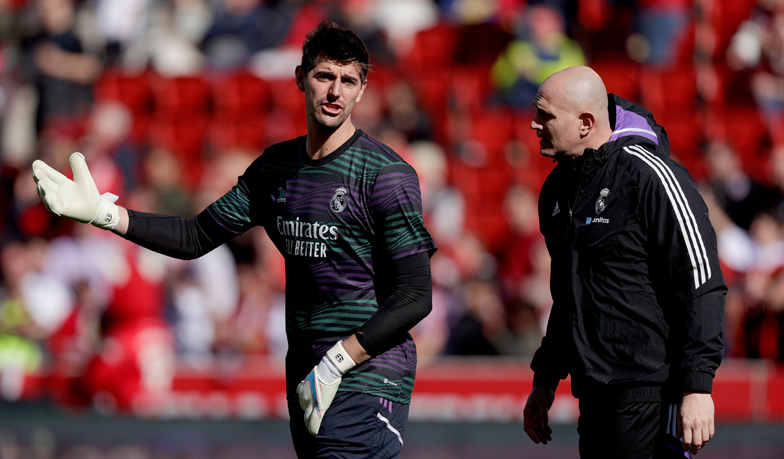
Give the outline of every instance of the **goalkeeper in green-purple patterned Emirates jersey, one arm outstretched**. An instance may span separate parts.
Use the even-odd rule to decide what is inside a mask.
[[[286,260],[286,393],[297,455],[398,457],[416,348],[408,331],[431,309],[419,180],[389,147],[356,129],[368,51],[352,31],[319,24],[296,84],[307,135],[273,145],[196,217],[135,212],[100,196],[84,157],[73,181],[41,161],[47,208],[148,249],[192,259],[263,226]]]

